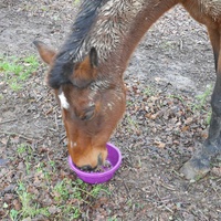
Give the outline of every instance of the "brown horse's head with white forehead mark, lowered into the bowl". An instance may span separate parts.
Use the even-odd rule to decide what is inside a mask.
[[[62,108],[69,154],[77,167],[94,169],[105,161],[106,143],[125,110],[124,82],[104,73],[94,48],[83,61],[57,67],[56,53],[42,42],[34,44],[50,65],[48,83]]]

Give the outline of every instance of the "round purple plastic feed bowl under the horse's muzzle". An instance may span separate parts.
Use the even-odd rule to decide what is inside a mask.
[[[107,143],[106,144],[107,148],[107,161],[110,162],[112,167],[104,171],[104,172],[87,172],[87,171],[82,171],[78,169],[72,161],[71,156],[69,156],[69,165],[72,170],[74,170],[77,175],[77,177],[83,180],[84,182],[95,185],[95,183],[102,183],[106,182],[109,179],[113,178],[115,171],[119,168],[122,164],[122,154],[117,147],[114,145]]]

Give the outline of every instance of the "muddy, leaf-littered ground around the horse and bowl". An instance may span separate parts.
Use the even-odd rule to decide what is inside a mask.
[[[38,57],[35,39],[57,49],[77,7],[3,0],[0,62]],[[127,109],[110,138],[123,162],[102,186],[82,183],[69,168],[60,107],[38,62],[20,90],[0,69],[2,220],[221,220],[221,159],[198,181],[179,173],[207,137],[215,77],[207,31],[182,7],[151,27],[130,60]]]

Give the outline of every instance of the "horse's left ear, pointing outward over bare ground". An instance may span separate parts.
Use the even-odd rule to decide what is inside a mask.
[[[54,60],[56,52],[54,50],[50,49],[46,44],[44,44],[41,41],[34,41],[33,44],[36,46],[41,59],[46,64],[52,64],[52,61]]]

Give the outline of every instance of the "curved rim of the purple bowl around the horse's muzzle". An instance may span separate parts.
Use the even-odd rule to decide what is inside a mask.
[[[74,170],[78,176],[84,176],[84,177],[87,177],[87,178],[102,178],[102,177],[106,177],[108,175],[114,173],[119,168],[119,166],[122,164],[122,152],[119,151],[119,149],[115,145],[113,145],[110,143],[107,143],[106,147],[107,146],[113,148],[113,149],[115,149],[117,151],[117,154],[118,154],[117,164],[114,167],[112,167],[109,170],[104,171],[104,172],[93,172],[93,171],[92,172],[87,172],[87,171],[83,171],[83,170],[78,169],[73,164],[71,156],[69,156],[69,165],[70,165],[71,169]]]

